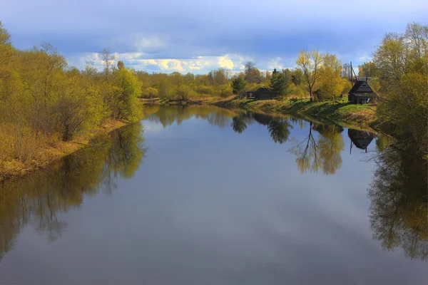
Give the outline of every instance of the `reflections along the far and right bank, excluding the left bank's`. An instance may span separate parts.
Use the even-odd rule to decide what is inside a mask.
[[[160,121],[164,126],[194,116],[221,128],[230,125],[239,134],[257,122],[266,126],[273,142],[283,144],[290,140],[287,150],[295,155],[300,172],[322,171],[325,175],[334,175],[342,166],[342,152],[345,150],[342,133],[345,129],[339,125],[212,106],[157,106],[152,114],[151,120]],[[306,133],[303,139],[290,138],[293,126]],[[374,133],[354,129],[348,129],[347,135],[350,138],[350,155],[353,147],[367,152],[372,140],[377,138],[377,152],[374,152],[377,170],[368,194],[372,201],[370,222],[374,239],[379,240],[384,249],[402,247],[407,257],[427,259],[427,161],[397,150],[403,149],[402,146],[397,147],[397,142],[394,142],[395,148],[390,147],[392,142],[386,136],[377,137]]]

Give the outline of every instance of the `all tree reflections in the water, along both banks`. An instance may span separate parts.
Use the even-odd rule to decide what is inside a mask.
[[[248,132],[250,125],[263,125],[265,136],[292,153],[302,173],[334,175],[342,167],[342,155],[348,155],[344,151],[345,129],[338,125],[213,106],[153,105],[147,106],[145,113],[148,120],[165,128],[190,118],[239,134]],[[347,134],[350,150],[353,146],[367,150],[376,138],[377,169],[368,190],[374,239],[384,249],[399,247],[409,258],[427,259],[427,161],[410,155],[410,146],[392,143],[387,137],[351,129]],[[14,246],[14,239],[26,224],[34,225],[53,241],[67,227],[59,213],[79,207],[85,195],[96,195],[101,190],[110,193],[118,176],[133,177],[145,152],[142,143],[141,125],[131,125],[101,138],[97,147],[64,158],[52,170],[34,172],[0,187],[0,259]]]

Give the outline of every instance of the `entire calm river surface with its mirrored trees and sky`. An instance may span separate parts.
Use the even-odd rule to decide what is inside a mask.
[[[428,280],[427,165],[387,138],[213,107],[146,113],[0,186],[0,284]]]

